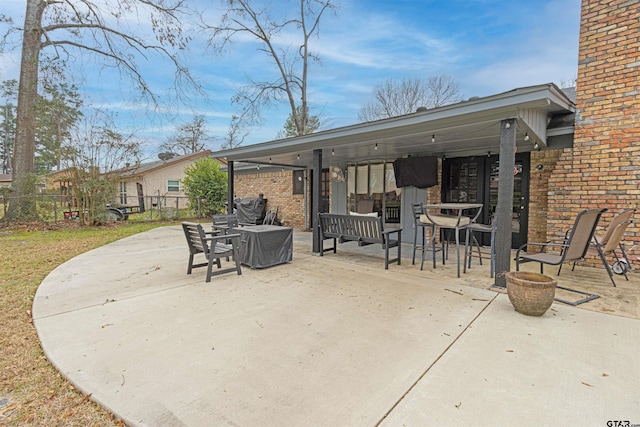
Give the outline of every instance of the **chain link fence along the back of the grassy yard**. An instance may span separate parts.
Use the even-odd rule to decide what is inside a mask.
[[[144,196],[128,197],[121,202],[112,203],[95,208],[92,216],[98,220],[161,220],[201,218],[200,203],[192,207],[184,196]],[[76,221],[88,215],[87,209],[78,206],[76,200],[70,196],[57,194],[39,194],[34,196],[0,195],[0,221],[7,216],[12,203],[20,205],[21,209],[28,209],[24,217],[37,218],[44,222]]]

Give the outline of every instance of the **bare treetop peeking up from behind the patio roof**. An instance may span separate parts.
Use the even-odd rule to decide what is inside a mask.
[[[449,76],[387,79],[373,89],[372,99],[358,113],[362,121],[397,117],[420,107],[435,108],[462,100],[460,86]]]

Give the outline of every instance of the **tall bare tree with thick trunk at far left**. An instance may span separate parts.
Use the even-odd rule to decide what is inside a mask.
[[[22,34],[22,57],[18,89],[16,137],[13,150],[13,188],[18,196],[32,194],[35,171],[35,123],[41,55],[66,61],[77,52],[101,57],[105,66],[117,67],[133,79],[140,93],[158,105],[145,81],[137,59],[161,54],[177,69],[177,82],[193,80],[172,51],[186,47],[188,37],[181,29],[185,0],[27,0],[24,27],[11,27],[11,35]],[[6,17],[0,22],[8,23]],[[150,23],[153,36],[144,34],[149,26],[131,25],[131,20]],[[9,22],[10,23],[10,22]],[[134,29],[141,34],[136,35]],[[155,40],[153,40],[155,39]],[[0,47],[5,46],[0,45]],[[170,50],[171,49],[171,50]],[[10,205],[9,219],[37,218],[35,210]],[[30,214],[28,212],[31,212]]]

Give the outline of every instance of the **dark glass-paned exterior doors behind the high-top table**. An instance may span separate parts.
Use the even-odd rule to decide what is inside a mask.
[[[529,222],[529,154],[516,155],[513,189],[511,247],[527,242]],[[446,159],[442,168],[442,200],[444,202],[482,203],[479,222],[490,224],[498,205],[498,156],[476,156]],[[490,244],[490,236],[482,237]]]

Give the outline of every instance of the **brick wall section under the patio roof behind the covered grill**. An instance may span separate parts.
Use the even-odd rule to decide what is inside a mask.
[[[258,197],[262,193],[267,199],[267,209],[278,208],[278,219],[283,225],[304,227],[304,195],[293,194],[293,172],[237,173],[233,185],[235,197]]]

